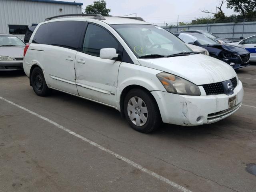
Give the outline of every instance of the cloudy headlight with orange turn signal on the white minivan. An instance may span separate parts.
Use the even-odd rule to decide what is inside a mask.
[[[167,92],[182,95],[201,95],[195,84],[170,73],[162,72],[156,75]]]

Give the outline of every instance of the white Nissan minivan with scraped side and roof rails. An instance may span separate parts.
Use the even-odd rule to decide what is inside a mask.
[[[162,122],[214,123],[242,105],[231,66],[142,18],[56,17],[38,24],[24,49],[39,96],[55,89],[116,108],[144,133]]]

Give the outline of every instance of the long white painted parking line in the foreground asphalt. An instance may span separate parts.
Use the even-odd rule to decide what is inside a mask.
[[[8,103],[10,103],[10,104],[12,104],[12,105],[14,105],[16,107],[18,107],[18,108],[20,108],[20,109],[22,109],[22,110],[24,110],[24,111],[26,111],[26,112],[34,115],[34,116],[37,116],[38,118],[41,118],[42,120],[45,120],[45,121],[55,125],[56,127],[58,127],[58,128],[60,128],[60,129],[62,129],[64,131],[68,132],[69,134],[72,134],[72,135],[80,138],[81,140],[84,140],[85,142],[88,142],[89,144],[91,144],[91,145],[93,145],[93,146],[95,146],[95,147],[97,147],[97,148],[107,152],[108,154],[111,154],[112,156],[114,156],[114,157],[118,158],[119,160],[122,160],[122,161],[130,164],[131,166],[134,166],[135,168],[141,170],[142,172],[144,172],[146,174],[149,174],[149,175],[151,175],[151,176],[153,176],[153,177],[155,177],[155,178],[157,178],[157,179],[159,179],[159,180],[161,180],[163,182],[166,182],[170,186],[172,186],[174,188],[177,188],[177,189],[181,190],[182,192],[192,192],[192,191],[188,190],[187,188],[184,188],[184,187],[176,184],[175,182],[172,182],[171,180],[169,180],[169,179],[167,179],[167,178],[165,178],[163,176],[160,176],[157,173],[155,173],[155,172],[153,172],[151,170],[148,170],[147,168],[142,167],[141,165],[133,162],[132,160],[129,160],[129,159],[127,159],[127,158],[125,158],[125,157],[123,157],[123,156],[121,156],[121,155],[119,155],[119,154],[117,154],[115,152],[112,152],[111,150],[109,150],[107,148],[104,148],[103,146],[101,146],[101,145],[99,145],[99,144],[97,144],[97,143],[95,143],[95,142],[93,142],[93,141],[91,141],[91,140],[89,140],[89,139],[79,135],[79,134],[76,134],[75,132],[72,132],[71,130],[65,128],[64,126],[62,126],[62,125],[60,125],[60,124],[58,124],[58,123],[56,123],[56,122],[54,122],[54,121],[44,117],[44,116],[41,116],[41,115],[39,115],[39,114],[37,114],[37,113],[35,113],[33,111],[30,111],[30,110],[28,110],[28,109],[26,109],[26,108],[24,108],[24,107],[22,107],[22,106],[20,106],[20,105],[18,105],[16,103],[14,103],[14,102],[11,102],[11,101],[9,101],[9,100],[7,100],[5,98],[0,97],[0,99],[6,101],[6,102],[8,102]]]

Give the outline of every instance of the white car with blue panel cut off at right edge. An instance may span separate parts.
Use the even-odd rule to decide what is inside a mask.
[[[229,44],[240,46],[248,50],[251,53],[250,61],[256,62],[256,35],[240,40],[239,42]]]

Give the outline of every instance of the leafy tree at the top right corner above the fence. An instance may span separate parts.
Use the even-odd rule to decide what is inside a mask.
[[[256,12],[256,0],[227,0],[227,8],[234,9],[244,18]]]

